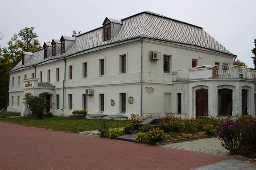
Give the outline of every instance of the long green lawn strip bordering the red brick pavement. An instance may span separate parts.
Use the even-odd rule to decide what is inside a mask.
[[[97,130],[97,128],[100,127],[100,124],[103,121],[106,121],[106,123],[119,123],[120,127],[127,122],[103,119],[68,120],[68,117],[50,117],[41,120],[29,119],[26,117],[0,119],[0,122],[9,122],[24,126],[40,127],[44,129],[58,130],[68,133],[79,133],[87,130]]]

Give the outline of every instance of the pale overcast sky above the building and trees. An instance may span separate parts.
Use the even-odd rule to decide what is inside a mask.
[[[105,17],[122,19],[152,11],[201,26],[237,59],[253,66],[256,0],[0,0],[0,31],[6,42],[24,27],[35,27],[41,45],[73,29],[86,32],[102,26]]]

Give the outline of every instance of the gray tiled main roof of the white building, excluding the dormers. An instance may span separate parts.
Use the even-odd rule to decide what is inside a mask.
[[[103,41],[103,27],[96,28],[76,37],[63,36],[66,40],[74,41],[65,53],[61,54],[59,51],[55,56],[50,55],[44,59],[44,51],[42,49],[35,51],[33,56],[25,63],[25,65],[21,65],[20,62],[12,69],[12,71],[17,68],[36,65],[50,59],[68,57],[99,46],[131,40],[140,37],[141,34],[145,38],[183,44],[188,47],[199,47],[198,49],[234,55],[201,27],[174,20],[169,17],[164,17],[149,11],[144,11],[122,19],[122,26],[108,41]]]

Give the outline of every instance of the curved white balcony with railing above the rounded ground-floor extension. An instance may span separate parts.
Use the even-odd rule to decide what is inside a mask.
[[[256,71],[238,65],[203,65],[189,69],[173,71],[174,81],[205,78],[241,78],[256,80]]]

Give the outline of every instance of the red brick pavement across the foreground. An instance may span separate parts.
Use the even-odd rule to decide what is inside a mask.
[[[0,170],[190,170],[224,159],[0,122]]]

